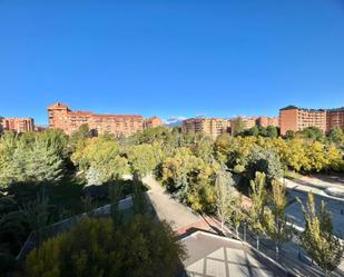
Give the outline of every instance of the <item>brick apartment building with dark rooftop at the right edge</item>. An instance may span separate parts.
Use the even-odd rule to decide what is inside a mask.
[[[344,128],[344,108],[304,109],[288,106],[279,110],[281,135],[288,130],[301,131],[307,127],[316,127],[323,132],[334,128]]]

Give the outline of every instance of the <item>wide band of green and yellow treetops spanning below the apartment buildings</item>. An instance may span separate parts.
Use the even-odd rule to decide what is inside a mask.
[[[341,135],[334,137],[338,141]],[[179,168],[181,164],[186,169]],[[255,172],[250,167],[257,164],[267,167],[261,171],[265,171],[268,178],[271,175],[281,176],[281,170],[340,171],[344,167],[341,149],[335,144],[299,137],[285,140],[281,137],[222,135],[213,141],[202,135],[161,127],[128,139],[91,138],[87,126],[82,126],[70,138],[61,131],[47,130],[21,136],[7,132],[0,139],[2,187],[20,181],[56,181],[73,165],[94,185],[120,178],[126,172],[146,175],[155,171],[167,186],[181,189],[185,187],[181,181],[195,179],[189,178],[193,172],[210,176],[219,164],[237,174],[247,172],[250,175],[248,179]],[[276,165],[275,169],[273,165]]]

